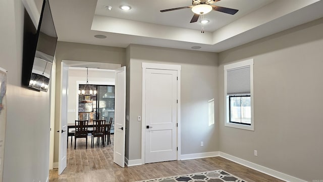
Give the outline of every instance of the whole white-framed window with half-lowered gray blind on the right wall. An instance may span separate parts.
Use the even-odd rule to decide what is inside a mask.
[[[225,126],[253,130],[253,60],[224,66]]]

